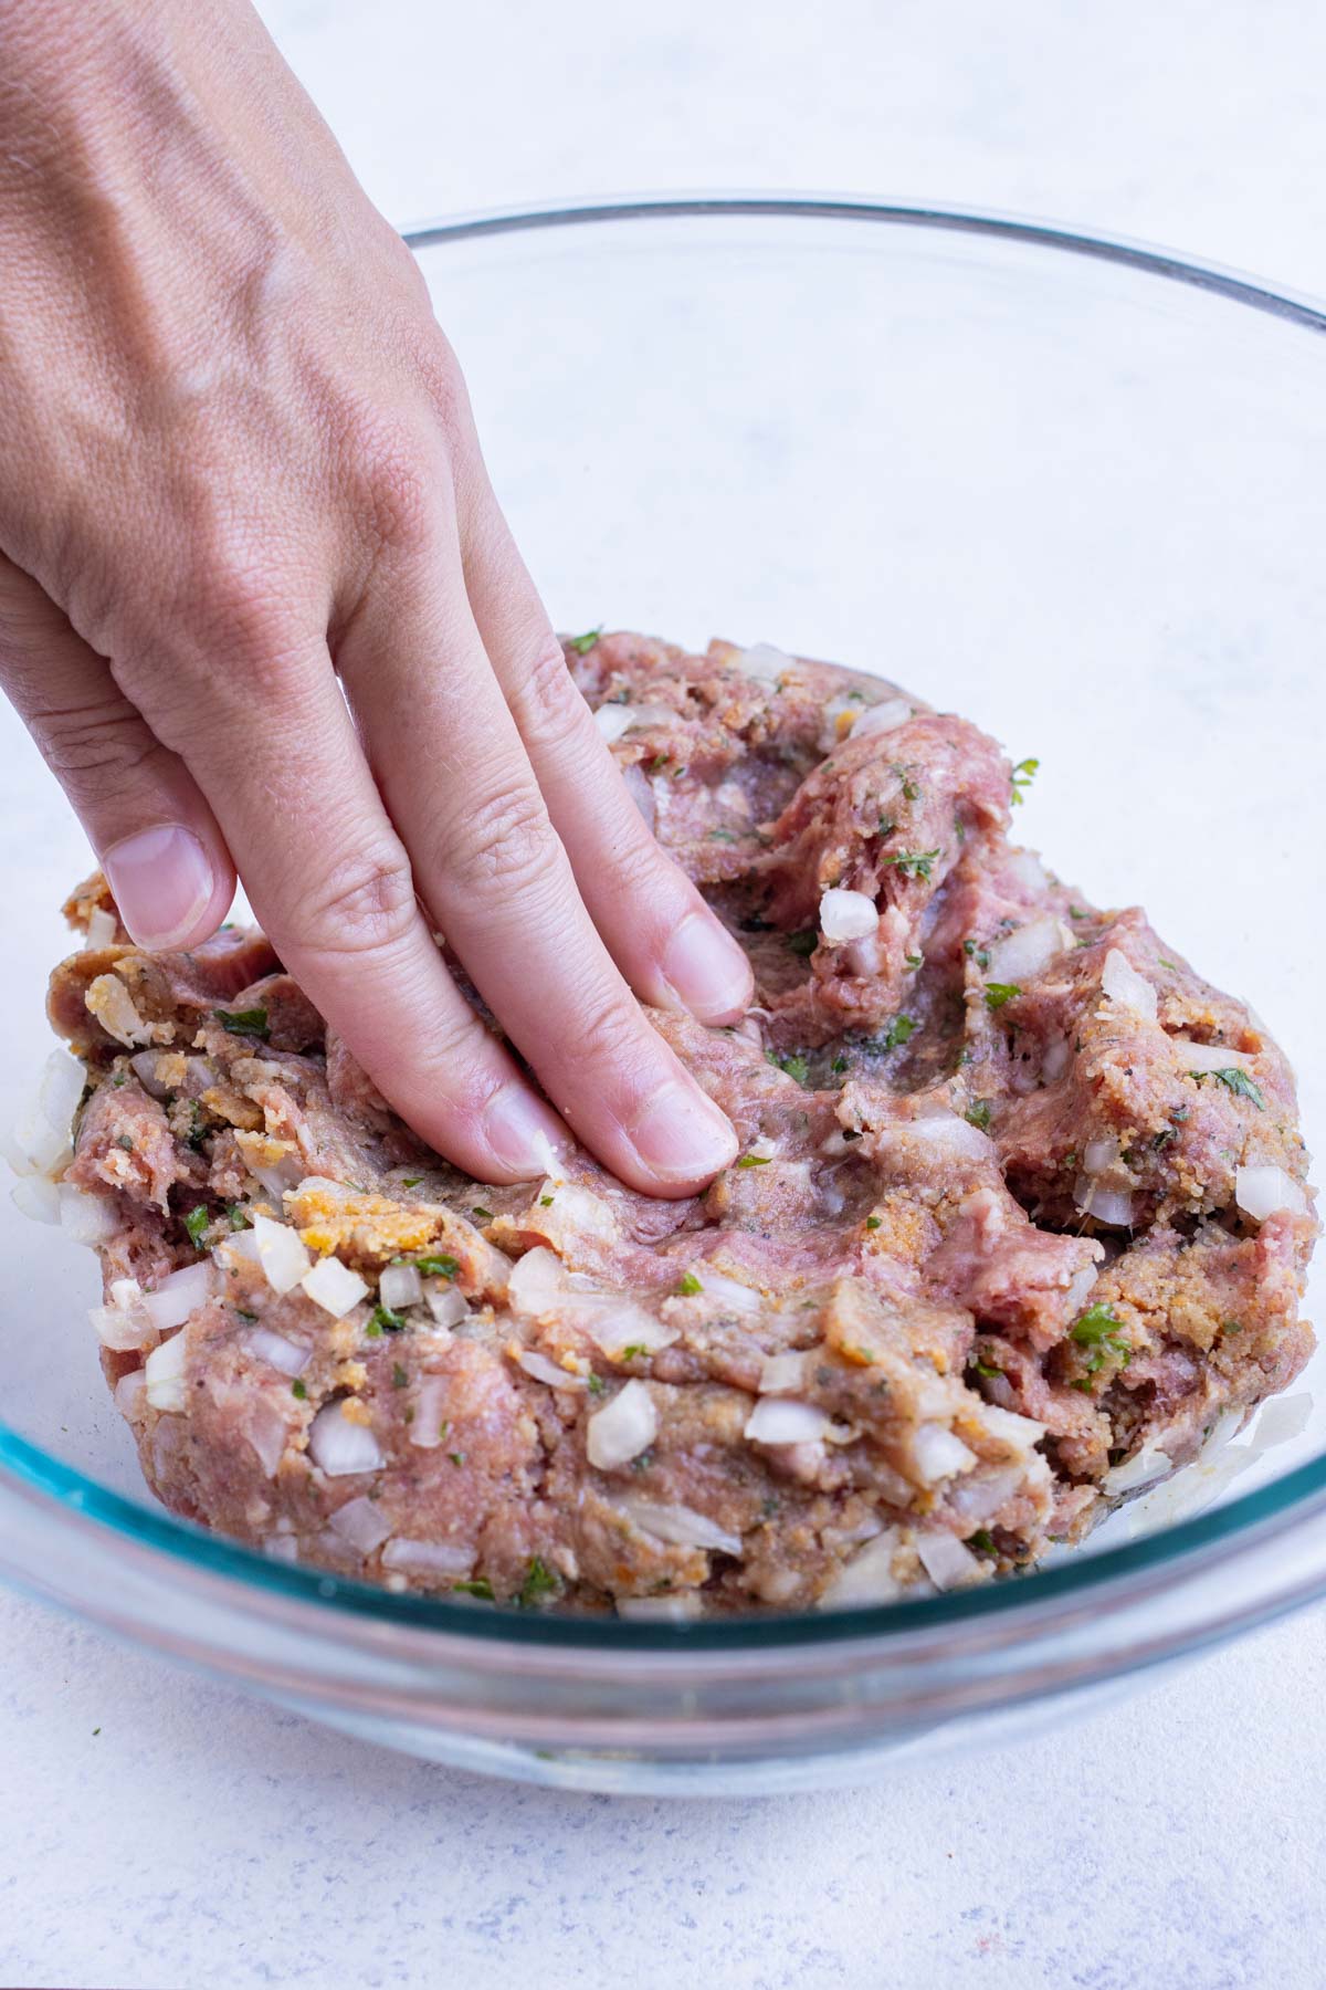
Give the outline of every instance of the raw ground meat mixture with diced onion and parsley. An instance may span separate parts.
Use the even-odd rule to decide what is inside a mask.
[[[650,1011],[740,1158],[686,1202],[582,1152],[487,1188],[260,933],[149,955],[89,880],[50,995],[72,1144],[36,1160],[165,1504],[394,1588],[875,1602],[1079,1540],[1284,1389],[1316,1234],[1288,1065],[1010,842],[1034,762],[765,645],[565,653],[749,951],[736,1029]]]

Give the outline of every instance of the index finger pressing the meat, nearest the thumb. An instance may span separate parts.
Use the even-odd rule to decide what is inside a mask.
[[[485,1182],[545,1174],[565,1126],[447,973],[326,649],[249,675],[197,700],[187,752],[272,945],[439,1154]]]

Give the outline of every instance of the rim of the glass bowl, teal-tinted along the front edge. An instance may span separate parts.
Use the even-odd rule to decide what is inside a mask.
[[[1304,330],[1326,332],[1326,304],[1320,300],[1217,263],[1127,237],[1087,233],[1066,223],[936,203],[875,201],[865,195],[734,191],[567,199],[429,219],[402,229],[402,239],[417,253],[445,243],[497,235],[660,219],[847,221],[996,237],[1135,269],[1217,295]],[[515,1642],[531,1658],[539,1650],[551,1658],[557,1648],[596,1650],[600,1654],[652,1650],[660,1656],[761,1650],[775,1658],[779,1652],[799,1646],[839,1652],[857,1646],[881,1648],[940,1626],[994,1630],[1018,1622],[1030,1624],[1032,1604],[1046,1606],[1050,1612],[1077,1608],[1091,1600],[1107,1606],[1107,1598],[1119,1596],[1129,1586],[1129,1578],[1153,1574],[1161,1566],[1181,1578],[1181,1574],[1205,1564],[1223,1544],[1246,1542],[1250,1536],[1258,1536],[1258,1542],[1264,1544],[1276,1534],[1292,1532],[1314,1518],[1324,1492],[1326,1453],[1211,1512],[1179,1520],[1113,1548],[1079,1554],[1052,1568],[1032,1570],[1018,1580],[845,1610],[747,1612],[734,1618],[668,1624],[622,1620],[606,1612],[559,1616],[543,1610],[521,1612],[475,1602],[445,1602],[410,1592],[396,1594],[326,1570],[276,1562],[223,1534],[177,1518],[165,1508],[113,1492],[101,1481],[30,1443],[0,1419],[0,1522],[8,1512],[14,1524],[22,1524],[36,1500],[36,1506],[54,1524],[64,1512],[64,1524],[93,1526],[153,1558],[183,1560],[201,1576],[221,1578],[235,1594],[258,1594],[272,1604],[284,1600],[294,1606],[314,1606],[328,1618],[328,1624],[340,1610],[350,1612],[360,1622],[368,1618],[408,1626],[415,1632],[441,1632],[449,1642],[477,1640],[489,1646]],[[4,1526],[0,1524],[0,1564],[6,1560],[14,1566],[14,1558],[4,1552]],[[1308,1594],[1322,1590],[1326,1590],[1326,1556],[1314,1588],[1308,1592],[1300,1588],[1292,1600],[1304,1602]]]

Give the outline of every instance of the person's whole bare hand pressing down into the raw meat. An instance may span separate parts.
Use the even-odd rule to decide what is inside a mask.
[[[694,1190],[736,1138],[632,989],[726,1023],[749,971],[571,683],[414,259],[249,6],[0,36],[0,681],[133,937],[197,945],[239,872],[459,1166],[571,1128]]]

